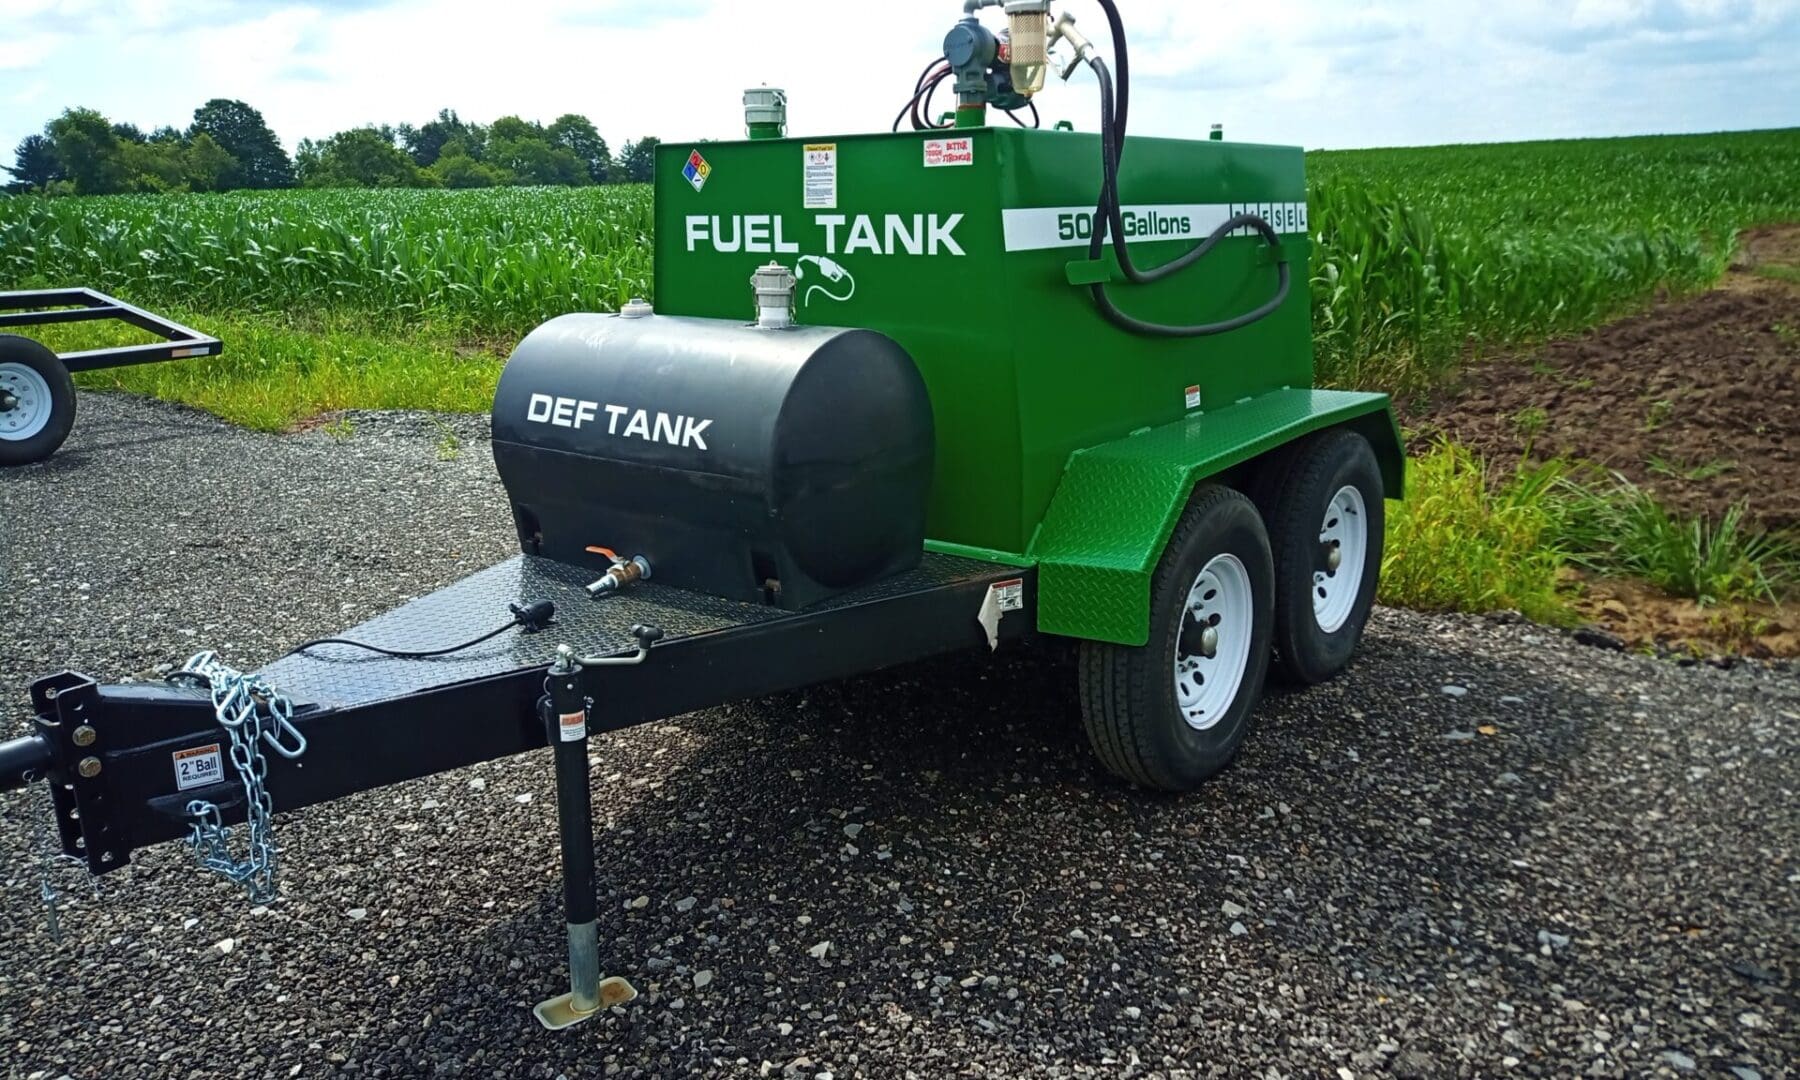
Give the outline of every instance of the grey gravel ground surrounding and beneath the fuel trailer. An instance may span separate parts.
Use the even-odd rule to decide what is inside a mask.
[[[259,664],[509,553],[481,419],[81,403],[0,477],[7,736],[38,675]],[[43,801],[0,799],[0,1071],[1795,1075],[1791,668],[1382,610],[1181,799],[1102,776],[1073,679],[952,657],[596,743],[603,952],[644,995],[562,1035],[545,754],[279,817],[272,909],[178,846],[101,896],[63,871],[61,945]]]

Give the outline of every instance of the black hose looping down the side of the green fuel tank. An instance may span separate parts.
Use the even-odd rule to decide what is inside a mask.
[[[1226,239],[1240,229],[1256,230],[1264,241],[1274,248],[1276,257],[1276,290],[1274,295],[1262,306],[1226,319],[1222,322],[1204,322],[1199,326],[1166,326],[1161,322],[1147,322],[1121,311],[1112,299],[1107,295],[1105,284],[1093,284],[1091,293],[1094,297],[1094,306],[1105,315],[1114,326],[1143,335],[1143,337],[1172,337],[1172,338],[1190,338],[1190,337],[1211,337],[1219,333],[1229,333],[1233,329],[1242,329],[1253,322],[1267,319],[1276,310],[1287,302],[1287,295],[1292,290],[1292,272],[1287,266],[1287,256],[1282,252],[1282,239],[1276,236],[1274,229],[1256,214],[1237,214],[1224,225],[1213,230],[1204,241],[1179,257],[1150,270],[1139,270],[1130,261],[1130,248],[1125,239],[1125,207],[1120,196],[1120,162],[1125,157],[1125,133],[1130,108],[1130,59],[1125,45],[1125,25],[1120,20],[1118,7],[1112,0],[1100,0],[1100,5],[1107,13],[1107,23],[1112,31],[1112,49],[1114,58],[1120,65],[1120,79],[1114,88],[1112,72],[1107,68],[1105,61],[1091,58],[1087,63],[1094,70],[1094,77],[1100,81],[1100,205],[1094,209],[1094,230],[1093,239],[1087,245],[1087,257],[1100,261],[1105,254],[1107,234],[1112,236],[1112,250],[1118,256],[1120,270],[1125,274],[1125,281],[1132,284],[1152,284],[1163,281],[1188,266],[1204,259],[1219,241]]]

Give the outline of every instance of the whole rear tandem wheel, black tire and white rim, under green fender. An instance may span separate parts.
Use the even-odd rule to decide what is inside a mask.
[[[1300,446],[1264,504],[1274,549],[1274,675],[1314,686],[1350,664],[1381,581],[1381,466],[1336,428]]]

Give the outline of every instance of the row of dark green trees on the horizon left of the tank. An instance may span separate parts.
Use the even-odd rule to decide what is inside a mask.
[[[216,97],[193,124],[144,133],[92,108],[70,108],[13,151],[9,193],[121,194],[272,187],[506,187],[648,184],[655,137],[617,157],[580,113],[551,124],[500,117],[472,124],[454,110],[412,126],[365,126],[302,139],[293,157],[241,101]]]

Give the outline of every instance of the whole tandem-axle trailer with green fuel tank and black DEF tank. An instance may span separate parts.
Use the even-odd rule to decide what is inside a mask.
[[[1384,396],[1312,389],[1303,155],[1127,139],[1098,2],[1116,77],[1049,0],[1006,2],[1010,36],[968,0],[914,131],[787,139],[765,88],[751,139],[664,146],[657,308],[556,319],[500,380],[518,556],[261,671],[43,679],[0,790],[47,781],[94,873],[185,839],[266,902],[274,810],[553,747],[554,1028],[632,995],[596,945],[594,734],[1057,634],[1109,770],[1224,769],[1273,662],[1350,662],[1404,455]],[[1098,135],[985,126],[1053,59]]]

